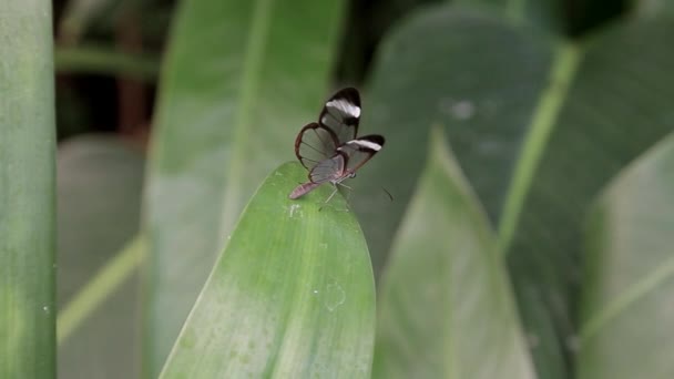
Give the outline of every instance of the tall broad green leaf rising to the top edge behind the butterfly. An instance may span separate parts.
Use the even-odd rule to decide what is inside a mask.
[[[144,371],[156,377],[234,221],[326,95],[343,1],[186,0],[149,173]]]

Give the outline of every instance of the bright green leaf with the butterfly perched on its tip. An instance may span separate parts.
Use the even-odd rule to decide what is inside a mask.
[[[244,211],[162,378],[368,378],[375,285],[365,238],[306,171],[272,173]]]

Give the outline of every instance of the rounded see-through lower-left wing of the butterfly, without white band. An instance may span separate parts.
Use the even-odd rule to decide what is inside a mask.
[[[315,122],[304,126],[295,140],[295,155],[307,170],[330,158],[337,151],[335,133]]]

